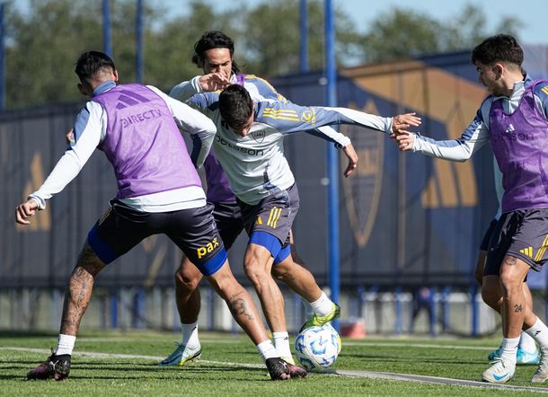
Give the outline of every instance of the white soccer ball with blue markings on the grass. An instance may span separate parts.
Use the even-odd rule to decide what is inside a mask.
[[[296,359],[309,371],[324,371],[340,353],[340,336],[331,325],[310,327],[295,340]]]

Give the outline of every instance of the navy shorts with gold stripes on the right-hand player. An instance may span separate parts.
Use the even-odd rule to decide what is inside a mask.
[[[484,275],[500,274],[506,255],[525,261],[540,271],[548,260],[548,208],[519,209],[502,214],[495,226]]]

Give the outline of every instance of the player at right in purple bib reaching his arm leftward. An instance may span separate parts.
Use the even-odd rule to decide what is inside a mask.
[[[540,364],[532,382],[548,379],[548,328],[526,304],[524,281],[548,259],[548,82],[524,75],[523,50],[512,36],[484,40],[472,52],[480,82],[491,93],[462,137],[432,143],[402,134],[402,150],[465,161],[487,142],[502,172],[504,194],[483,269],[482,298],[502,315],[502,352],[482,374],[486,382],[505,383],[516,371],[523,329],[538,343]]]

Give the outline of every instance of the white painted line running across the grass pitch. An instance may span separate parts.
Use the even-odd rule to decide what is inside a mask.
[[[47,348],[0,347],[0,350],[25,351],[25,352],[31,352],[31,353],[50,354],[50,351]],[[97,352],[87,352],[87,351],[75,352],[75,356],[95,357],[95,358],[129,358],[129,359],[140,358],[140,359],[154,360],[154,361],[160,361],[164,359],[164,357],[158,357],[158,356],[97,353]],[[264,368],[263,365],[259,365],[259,364],[229,363],[225,361],[210,361],[210,360],[199,360],[199,362],[205,363],[205,364],[219,365],[219,366]],[[548,393],[548,388],[543,388],[543,387],[514,386],[511,384],[488,384],[488,383],[477,382],[477,381],[466,381],[462,379],[445,378],[445,377],[439,377],[439,376],[392,374],[392,373],[386,373],[386,372],[358,371],[358,370],[347,370],[347,369],[335,369],[333,371],[329,371],[327,374],[363,377],[363,378],[369,378],[369,379],[386,379],[386,380],[403,381],[403,382],[419,382],[423,384],[449,384],[449,385],[464,386],[464,387],[499,388],[499,389],[533,392],[533,393]]]

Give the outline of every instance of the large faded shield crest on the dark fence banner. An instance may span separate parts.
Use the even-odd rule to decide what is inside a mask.
[[[356,109],[356,106],[349,108]],[[367,113],[378,114],[371,102]],[[364,247],[375,225],[378,203],[383,185],[384,137],[382,134],[368,134],[358,126],[340,126],[340,132],[352,140],[359,157],[358,168],[349,178],[344,178],[342,188],[346,197],[346,208],[350,227],[358,246]],[[347,159],[340,156],[341,168],[347,166]]]

